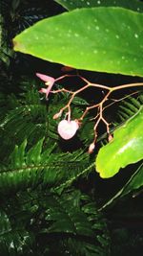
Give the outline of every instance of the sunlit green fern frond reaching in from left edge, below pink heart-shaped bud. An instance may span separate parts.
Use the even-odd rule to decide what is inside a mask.
[[[27,140],[16,146],[10,155],[10,162],[0,171],[0,191],[8,194],[10,190],[26,189],[37,184],[52,187],[71,185],[72,180],[89,166],[89,154],[83,151],[55,153],[56,143],[43,150],[44,138],[29,151]],[[90,172],[90,169],[87,169]]]

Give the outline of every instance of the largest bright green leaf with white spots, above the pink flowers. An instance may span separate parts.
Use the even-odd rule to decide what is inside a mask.
[[[17,35],[14,50],[78,69],[143,76],[143,14],[77,9]]]

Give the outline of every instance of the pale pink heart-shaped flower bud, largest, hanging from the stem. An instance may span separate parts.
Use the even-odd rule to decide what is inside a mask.
[[[58,133],[64,140],[71,139],[79,128],[76,121],[62,120],[58,124]]]

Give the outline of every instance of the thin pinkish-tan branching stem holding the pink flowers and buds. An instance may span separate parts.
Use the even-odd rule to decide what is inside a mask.
[[[110,104],[110,105],[106,105],[104,106],[105,102],[109,100],[112,92],[114,91],[117,91],[117,90],[122,90],[122,89],[127,89],[127,88],[132,88],[132,87],[140,87],[140,86],[143,86],[143,82],[135,82],[135,83],[128,83],[128,84],[123,84],[123,85],[118,85],[118,86],[113,86],[113,87],[110,87],[110,86],[107,86],[107,85],[103,85],[103,84],[98,84],[98,83],[92,83],[91,81],[88,81],[87,79],[83,78],[82,76],[80,75],[64,75],[64,76],[61,76],[57,79],[55,79],[55,81],[62,81],[64,80],[65,78],[71,78],[71,77],[78,77],[80,80],[84,81],[86,84],[84,86],[82,86],[80,89],[76,90],[76,91],[72,91],[72,90],[68,90],[68,89],[65,89],[65,88],[62,88],[62,89],[58,89],[58,90],[53,90],[51,91],[52,93],[60,93],[60,92],[65,92],[65,93],[69,93],[71,94],[71,98],[68,102],[67,105],[63,106],[61,109],[60,109],[60,114],[63,113],[63,111],[65,111],[67,109],[67,112],[66,112],[66,117],[68,119],[68,121],[70,122],[71,120],[71,115],[72,115],[72,109],[71,109],[71,104],[72,104],[72,101],[74,99],[74,97],[79,94],[80,92],[88,89],[89,87],[95,87],[95,88],[99,88],[99,89],[102,89],[103,91],[106,91],[106,95],[104,96],[104,98],[97,104],[95,105],[90,105],[88,107],[86,107],[85,111],[83,112],[83,114],[81,115],[81,117],[76,121],[80,123],[82,123],[84,117],[87,115],[87,113],[92,110],[93,108],[96,108],[98,109],[97,111],[97,114],[92,118],[92,120],[95,120],[95,125],[94,125],[94,139],[93,139],[93,144],[95,144],[95,141],[96,141],[96,137],[97,137],[97,128],[98,128],[98,125],[100,123],[100,121],[102,121],[105,126],[106,126],[106,129],[107,129],[107,133],[108,133],[108,136],[110,136],[110,124],[106,121],[106,119],[103,117],[103,112],[105,110],[105,108],[107,108],[108,106],[114,104],[115,102],[118,102],[118,101],[121,101],[122,99],[125,99],[127,98],[124,97],[120,100],[113,100],[113,103]],[[133,93],[134,94],[134,93]],[[56,114],[55,114],[56,115]],[[54,115],[54,116],[55,116]],[[57,113],[57,117],[58,117],[58,113]]]

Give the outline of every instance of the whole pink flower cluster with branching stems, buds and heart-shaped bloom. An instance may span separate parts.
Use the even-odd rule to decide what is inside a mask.
[[[69,94],[71,94],[71,98],[68,102],[67,105],[63,106],[59,112],[55,113],[54,116],[53,116],[53,119],[57,119],[59,117],[62,116],[62,113],[63,111],[66,111],[66,117],[67,119],[64,119],[62,121],[59,122],[58,124],[58,128],[57,128],[57,131],[58,131],[58,134],[65,140],[69,140],[71,139],[76,131],[78,130],[78,128],[80,127],[79,124],[82,123],[84,117],[86,116],[86,114],[88,113],[88,111],[90,111],[91,109],[93,108],[96,108],[98,111],[97,111],[97,115],[95,117],[93,117],[92,119],[95,121],[95,125],[94,125],[94,138],[93,138],[93,141],[92,141],[92,144],[90,145],[89,147],[89,153],[92,153],[94,151],[94,148],[95,148],[95,143],[96,143],[96,138],[97,138],[97,127],[99,125],[100,122],[103,122],[106,126],[106,129],[107,129],[107,134],[108,134],[108,139],[109,139],[109,142],[112,141],[112,134],[110,132],[110,125],[109,123],[105,120],[105,118],[103,117],[103,111],[104,109],[109,106],[104,106],[104,103],[109,99],[109,96],[112,94],[113,91],[116,91],[116,90],[120,90],[120,89],[124,89],[124,88],[130,88],[130,87],[134,87],[134,86],[142,86],[142,83],[131,83],[131,84],[123,84],[123,85],[118,85],[118,86],[114,86],[114,87],[109,87],[109,86],[106,86],[106,85],[102,85],[102,84],[97,84],[97,83],[92,83],[91,81],[87,81],[85,78],[79,76],[79,75],[64,75],[62,77],[59,77],[57,79],[54,79],[50,76],[47,76],[47,75],[44,75],[44,74],[40,74],[40,73],[36,73],[36,76],[41,79],[42,81],[45,81],[45,85],[46,85],[46,88],[41,88],[40,89],[40,93],[45,93],[46,94],[46,99],[48,100],[49,98],[49,95],[50,93],[59,93],[59,92],[68,92]],[[64,78],[66,77],[72,77],[72,76],[78,76],[82,81],[85,81],[85,85],[83,87],[81,87],[80,89],[76,90],[76,91],[70,91],[70,90],[67,90],[65,88],[62,88],[62,89],[58,89],[58,90],[52,90],[52,86],[54,84],[55,81],[61,81],[63,80]],[[75,120],[72,120],[71,119],[71,104],[72,104],[72,100],[73,98],[78,94],[80,93],[81,91],[89,88],[89,87],[95,87],[95,88],[100,88],[101,90],[104,90],[106,91],[105,93],[105,96],[103,97],[103,99],[95,104],[95,105],[90,105],[88,106],[85,111],[83,112],[82,116],[78,119],[75,119]],[[121,99],[123,100],[123,99]],[[112,102],[112,104],[114,102],[116,102],[117,100],[114,100]],[[111,104],[111,105],[112,105]]]

